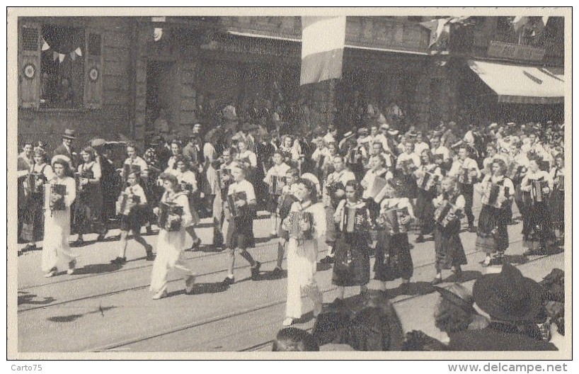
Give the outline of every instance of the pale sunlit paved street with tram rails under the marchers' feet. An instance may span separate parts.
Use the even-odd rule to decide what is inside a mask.
[[[205,222],[197,230],[202,247],[184,256],[198,274],[193,295],[185,295],[183,280],[170,273],[168,297],[161,300],[151,300],[148,287],[152,262],[144,260],[144,249],[139,244],[129,242],[125,266],[109,263],[117,254],[118,231],[111,231],[105,242],[93,242],[96,235],[88,236],[89,244],[76,249],[81,257],[78,271],[72,276],[61,271],[59,276],[44,278],[40,251],[18,257],[18,351],[269,351],[285,317],[286,279],[273,279],[268,274],[275,267],[277,244],[262,239],[268,234],[267,222],[256,221],[258,246],[251,250],[263,263],[262,279],[251,280],[248,264],[238,258],[236,283],[222,287],[226,257],[207,245],[212,230]],[[536,280],[554,267],[563,268],[562,252],[529,256],[524,262],[521,227],[520,223],[509,226],[508,261]],[[484,255],[474,251],[475,237],[469,232],[462,234],[469,264],[463,268],[461,282],[468,288],[484,271],[479,264]],[[145,239],[156,246],[156,235]],[[413,243],[415,235],[410,239]],[[401,294],[397,289],[399,280],[390,282],[389,297],[405,331],[421,329],[440,338],[432,318],[437,293],[432,293],[428,284],[435,275],[434,244],[414,244],[411,254],[413,286]],[[321,251],[319,258],[324,255]],[[65,264],[62,269],[66,269]],[[442,286],[452,282],[451,274],[443,274],[446,282]],[[317,277],[324,302],[332,302],[336,288],[331,285],[331,268],[319,268]],[[357,288],[347,289],[346,296],[356,292]],[[311,308],[309,302],[306,308]],[[314,319],[309,313],[299,322],[296,327],[309,329]]]

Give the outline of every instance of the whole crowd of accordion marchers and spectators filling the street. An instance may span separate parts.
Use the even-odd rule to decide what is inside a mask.
[[[373,111],[365,126],[345,133],[330,126],[290,134],[280,125],[240,123],[234,108],[225,111],[222,123],[206,129],[197,124],[186,137],[151,133],[144,149],[127,142],[126,159],[116,163],[105,140],[93,140],[76,154],[74,130],[64,132],[54,151],[26,142],[18,156],[19,254],[42,242],[44,275],[58,274],[59,257],[73,274],[78,256],[71,246],[85,245],[86,234],[103,240],[115,225],[121,232],[118,254],[106,261],[122,265],[127,241],[142,244],[146,261],[154,261],[151,295],[161,299],[167,295],[168,271],[183,273],[186,292],[193,290],[195,269],[181,256],[201,245],[195,226],[202,217],[213,222],[211,244],[226,254],[224,285],[235,284],[237,254],[257,278],[261,263],[251,255],[253,222],[266,210],[270,237],[277,241],[274,273],[281,276],[287,256],[283,325],[288,328],[277,336],[275,350],[316,346],[308,333],[289,327],[303,315],[302,295],[314,305],[314,335],[321,331],[321,317],[329,320],[316,282],[318,263],[332,266],[331,282],[337,286],[332,305],[338,317],[330,319],[341,321],[334,326],[337,335],[328,338],[323,329],[318,343],[340,340],[368,350],[375,345],[360,337],[370,334],[365,326],[390,320],[392,331],[396,316],[388,301],[376,296],[383,293],[367,285],[373,278],[378,291],[384,291],[387,282],[401,279],[400,288],[408,287],[414,271],[408,234],[415,233],[415,242],[432,242],[435,251],[432,285],[443,282],[445,271],[452,271],[454,282],[462,280],[465,245],[481,252],[481,267],[503,268],[479,278],[473,295],[459,284],[436,287],[442,298],[435,320],[449,334],[449,343],[441,346],[412,331],[405,344],[393,345],[390,339],[382,348],[556,348],[554,333],[543,322],[556,325],[561,317],[561,307],[552,311],[553,302],[563,302],[561,293],[524,278],[505,254],[508,225],[519,220],[524,256],[550,254],[563,244],[563,125],[450,122],[418,131]],[[477,194],[482,208],[475,226]],[[476,242],[462,242],[463,218],[465,229],[476,232]],[[159,229],[154,247],[142,236],[143,227],[147,233]],[[324,251],[321,259],[319,251]],[[348,287],[359,288],[361,305],[373,307],[343,322],[339,307],[347,304]],[[542,320],[541,313],[546,316]]]

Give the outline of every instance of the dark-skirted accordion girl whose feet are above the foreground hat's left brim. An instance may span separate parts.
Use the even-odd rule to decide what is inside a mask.
[[[511,203],[515,196],[515,186],[505,176],[507,164],[502,159],[495,159],[491,163],[491,171],[492,174],[486,175],[480,184],[483,207],[478,216],[477,234],[479,239],[477,239],[476,249],[486,252],[484,267],[491,264],[491,254],[493,253],[496,253],[498,260],[502,262],[503,255],[509,247],[507,226],[512,217]],[[486,203],[491,193],[491,183],[500,186],[495,205]]]

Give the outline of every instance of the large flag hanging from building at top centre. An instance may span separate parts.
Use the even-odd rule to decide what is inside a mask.
[[[345,16],[302,17],[300,85],[342,77],[345,28]]]

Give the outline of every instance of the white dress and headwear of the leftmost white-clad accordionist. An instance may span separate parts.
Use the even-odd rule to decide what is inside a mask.
[[[42,242],[42,271],[45,273],[57,267],[59,256],[70,262],[76,258],[69,246],[70,236],[70,205],[76,198],[76,183],[67,176],[64,179],[55,177],[50,184],[67,186],[64,195],[65,210],[45,210],[45,237]]]

